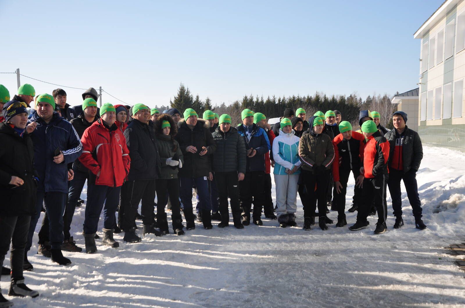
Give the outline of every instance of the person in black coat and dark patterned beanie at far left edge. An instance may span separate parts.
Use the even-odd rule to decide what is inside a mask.
[[[27,104],[8,102],[0,123],[0,267],[10,243],[11,286],[9,295],[39,295],[24,284],[23,260],[31,215],[35,213],[38,175],[34,169],[34,148],[25,132]],[[8,302],[0,293],[0,304]]]

